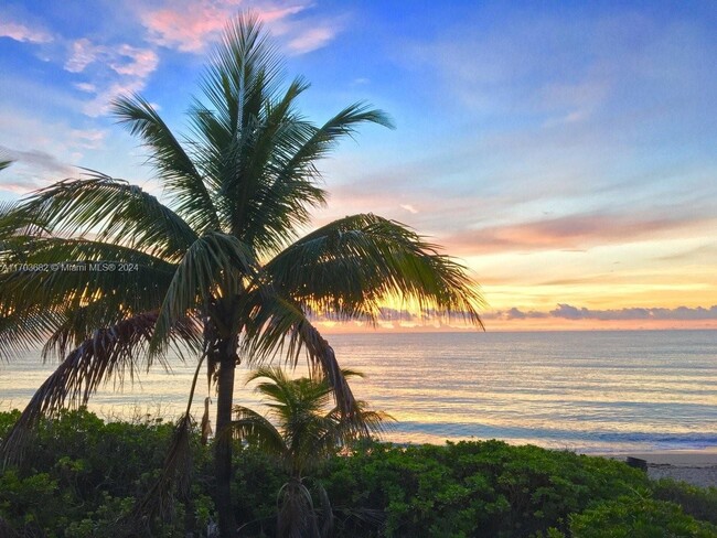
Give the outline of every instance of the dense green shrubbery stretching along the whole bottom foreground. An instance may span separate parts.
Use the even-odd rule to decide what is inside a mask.
[[[18,416],[0,413],[0,438]],[[216,517],[213,455],[199,429],[188,488],[174,489],[153,520],[129,525],[172,434],[159,419],[104,422],[87,411],[42,422],[25,463],[0,475],[0,536],[207,536]],[[620,462],[529,445],[366,443],[327,459],[313,476],[309,488],[321,484],[331,499],[332,536],[717,536],[709,523],[717,488],[653,483]],[[277,495],[288,478],[276,458],[235,445],[233,510],[243,536],[275,536]]]

